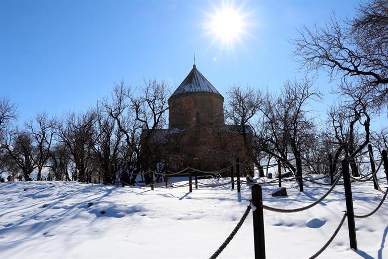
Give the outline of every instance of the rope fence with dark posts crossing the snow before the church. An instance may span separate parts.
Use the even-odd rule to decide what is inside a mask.
[[[360,153],[357,156],[353,156],[351,158],[345,158],[344,160],[342,160],[342,162],[339,162],[339,161],[332,162],[331,156],[330,156],[331,162],[329,162],[329,163],[309,161],[309,160],[302,158],[300,156],[300,154],[298,153],[298,156],[296,156],[295,158],[293,158],[291,160],[282,161],[282,162],[279,162],[276,164],[268,164],[267,166],[246,165],[243,163],[239,163],[239,160],[237,159],[235,164],[230,165],[230,166],[225,167],[225,168],[222,168],[220,170],[215,170],[215,171],[199,170],[196,168],[192,168],[191,166],[187,167],[181,171],[178,171],[178,172],[171,172],[169,170],[165,170],[163,172],[155,172],[153,170],[148,170],[146,172],[142,172],[141,174],[142,175],[149,175],[151,177],[151,183],[141,184],[140,182],[137,182],[137,181],[135,181],[135,183],[139,186],[142,186],[142,187],[147,186],[147,185],[151,185],[152,190],[153,190],[154,186],[160,187],[160,188],[182,188],[182,187],[189,186],[190,192],[192,192],[192,185],[195,185],[196,188],[198,188],[198,186],[204,187],[204,188],[206,188],[206,187],[214,188],[214,187],[231,185],[231,188],[233,190],[234,184],[237,183],[237,191],[238,192],[240,192],[240,185],[241,184],[245,184],[245,185],[249,186],[249,188],[251,189],[251,192],[252,192],[252,199],[250,200],[249,205],[245,209],[242,217],[240,218],[240,220],[238,221],[238,223],[236,224],[236,226],[234,227],[232,232],[228,235],[228,237],[221,244],[221,246],[210,256],[210,259],[217,258],[221,254],[221,252],[227,247],[227,245],[235,237],[235,235],[237,234],[237,232],[239,231],[239,229],[241,228],[242,224],[245,222],[246,218],[248,217],[248,215],[251,211],[252,211],[252,218],[253,218],[253,236],[254,236],[253,243],[254,243],[254,254],[255,254],[254,257],[259,258],[259,259],[264,259],[265,258],[265,234],[264,234],[264,226],[265,225],[264,225],[264,216],[263,216],[264,210],[275,212],[275,213],[285,213],[285,214],[306,211],[306,210],[311,209],[313,206],[316,206],[318,203],[322,202],[326,197],[328,197],[328,195],[336,188],[337,185],[343,184],[344,191],[345,191],[345,201],[346,201],[346,210],[344,211],[345,213],[343,214],[339,225],[337,226],[337,228],[335,229],[333,234],[330,236],[328,241],[321,248],[319,248],[319,250],[317,252],[315,252],[313,255],[311,255],[309,257],[309,259],[314,259],[314,258],[318,257],[322,252],[324,252],[329,247],[329,245],[333,242],[334,238],[337,236],[340,229],[344,225],[344,222],[346,219],[348,220],[350,248],[357,250],[356,227],[355,227],[354,219],[355,218],[356,219],[363,219],[363,218],[368,218],[368,217],[374,215],[381,208],[383,202],[385,201],[385,199],[388,195],[388,187],[383,192],[381,190],[380,186],[378,185],[378,181],[384,180],[388,177],[388,158],[386,155],[386,151],[385,151],[385,153],[382,152],[382,157],[379,160],[374,160],[373,154],[369,150],[370,161],[353,162],[353,161],[355,161],[355,159],[360,158],[367,153],[368,153],[368,151]],[[281,166],[282,165],[284,166],[293,160],[296,160],[296,166],[295,166],[296,172],[292,172],[292,174],[294,174],[295,177],[292,177],[292,178],[283,177],[282,173],[281,173]],[[307,161],[307,163],[310,163],[310,164],[302,165],[302,163],[301,163],[302,160]],[[377,161],[379,162],[378,165],[377,165]],[[325,165],[329,164],[330,165],[330,167],[329,167],[330,173],[326,173],[325,175],[322,175],[319,177],[314,177],[314,178],[303,177],[302,176],[302,166],[312,166],[311,163],[325,164]],[[333,165],[338,165],[340,163],[342,165],[342,170],[334,170],[335,167]],[[367,163],[371,164],[371,172],[370,173],[367,173],[366,175],[362,175],[360,173],[362,176],[359,178],[356,178],[356,177],[353,177],[352,175],[350,175],[349,166],[351,164],[361,165],[361,164],[367,164]],[[235,168],[234,168],[234,166],[235,166]],[[240,166],[247,167],[247,169],[240,169]],[[241,172],[251,172],[255,168],[264,169],[264,168],[271,168],[274,166],[278,166],[278,172],[279,172],[278,179],[274,179],[271,181],[258,181],[257,179],[256,180],[252,179],[249,176],[249,174],[246,177],[247,178],[246,180],[240,179]],[[379,172],[380,168],[382,168],[382,167],[384,168],[384,171],[385,171],[385,177],[377,178],[377,173]],[[234,179],[234,169],[236,171],[236,178],[237,179]],[[352,170],[353,170],[353,167],[352,167]],[[221,182],[221,183],[220,182],[218,182],[218,183],[215,183],[215,182],[206,183],[203,181],[198,181],[197,173],[207,174],[205,176],[219,177],[220,178],[221,173],[228,172],[228,171],[230,171],[230,173],[231,173],[230,181]],[[338,173],[335,173],[334,171],[336,171]],[[369,170],[368,170],[368,172],[369,172]],[[192,177],[193,177],[192,174],[193,173],[195,174],[195,183],[193,183],[193,181],[192,181]],[[163,186],[163,184],[161,184],[161,182],[154,183],[154,181],[153,181],[154,175],[164,177],[165,187]],[[172,182],[167,182],[167,179],[169,176],[185,176],[185,177],[188,176],[189,181],[186,183],[183,183],[183,184],[175,184]],[[327,178],[327,177],[331,178],[331,183],[319,182],[319,180],[322,180],[322,179]],[[335,180],[334,180],[334,178],[335,178]],[[157,179],[159,179],[159,178],[157,178]],[[300,192],[303,192],[303,180],[310,182],[312,184],[331,185],[331,187],[323,195],[321,195],[319,198],[317,198],[315,201],[313,201],[312,203],[310,203],[306,206],[302,206],[300,208],[283,209],[283,208],[274,208],[272,206],[263,204],[262,185],[279,183],[279,186],[281,186],[282,182],[294,181],[294,182],[299,184]],[[343,181],[340,182],[341,180],[343,180]],[[371,180],[373,180],[375,189],[379,190],[383,193],[381,200],[377,204],[376,208],[374,208],[370,213],[365,214],[365,215],[355,215],[354,209],[353,209],[351,183],[357,182],[357,183],[365,184],[366,182],[369,182]]]

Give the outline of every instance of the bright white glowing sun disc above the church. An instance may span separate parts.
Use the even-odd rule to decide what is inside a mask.
[[[232,9],[223,9],[213,17],[210,27],[217,38],[225,43],[238,40],[243,30],[242,17]]]

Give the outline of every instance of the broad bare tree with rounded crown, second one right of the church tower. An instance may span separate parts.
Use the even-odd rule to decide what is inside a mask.
[[[265,97],[268,102],[261,108],[263,121],[255,130],[256,148],[281,162],[309,149],[317,134],[314,118],[306,106],[321,95],[312,89],[312,84],[310,79],[286,81],[280,95]],[[291,163],[285,164],[296,171]]]

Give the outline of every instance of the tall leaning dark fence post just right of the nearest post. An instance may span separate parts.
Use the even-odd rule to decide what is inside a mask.
[[[350,248],[357,250],[356,225],[354,223],[352,187],[350,185],[349,163],[345,159],[342,161],[342,174],[344,176],[346,212],[348,214],[348,228]]]

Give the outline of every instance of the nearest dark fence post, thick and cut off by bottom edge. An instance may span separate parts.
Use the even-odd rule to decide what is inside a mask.
[[[252,186],[252,203],[256,207],[253,211],[253,243],[254,258],[266,258],[266,245],[264,240],[264,216],[263,216],[263,195],[262,186],[254,184]]]

